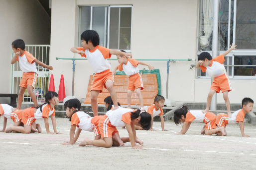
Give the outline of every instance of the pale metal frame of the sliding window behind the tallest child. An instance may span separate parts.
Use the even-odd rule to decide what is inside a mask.
[[[110,44],[110,11],[111,11],[111,8],[114,8],[114,7],[130,7],[131,8],[131,24],[130,24],[130,49],[127,50],[127,49],[115,49],[115,50],[125,50],[126,52],[130,53],[131,52],[131,42],[132,42],[132,10],[133,10],[133,6],[132,5],[78,5],[78,31],[77,31],[77,37],[79,37],[79,27],[80,27],[80,23],[81,23],[81,18],[80,18],[80,7],[91,7],[91,18],[90,18],[90,29],[92,29],[92,22],[93,22],[93,7],[107,7],[108,8],[108,11],[105,10],[105,17],[108,19],[108,25],[106,25],[106,21],[105,21],[105,33],[107,33],[107,40],[104,41],[104,45],[106,45],[109,49],[109,44]],[[120,13],[119,13],[120,15]],[[107,30],[106,30],[107,28]],[[120,30],[120,16],[119,16],[119,30]],[[118,35],[118,37],[120,36],[120,34]],[[107,42],[106,42],[107,41]],[[120,41],[120,37],[118,39],[118,41]],[[79,44],[79,38],[78,38],[78,46],[81,46]]]

